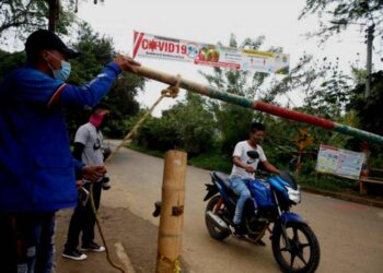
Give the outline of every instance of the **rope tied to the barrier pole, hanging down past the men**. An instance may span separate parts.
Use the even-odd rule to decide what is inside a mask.
[[[179,82],[181,82],[181,76],[177,75],[177,82],[176,82],[175,85],[169,86],[167,88],[161,91],[161,96],[156,99],[156,102],[152,105],[152,107],[150,107],[150,109],[142,116],[142,118],[134,126],[134,128],[123,139],[123,141],[119,143],[119,145],[105,159],[105,164],[108,163],[113,158],[113,156],[115,156],[115,154],[117,154],[117,152],[119,151],[119,149],[121,146],[124,146],[126,143],[130,142],[137,135],[139,127],[143,123],[143,121],[148,118],[148,116],[154,110],[154,108],[159,105],[159,103],[162,100],[162,98],[164,98],[164,97],[175,98],[178,95],[178,93],[179,93]],[[107,247],[106,239],[105,239],[104,233],[103,233],[102,227],[101,227],[101,222],[100,222],[100,219],[97,217],[97,211],[96,211],[95,205],[94,205],[93,183],[90,185],[89,192],[90,192],[90,202],[91,202],[92,211],[94,213],[94,217],[95,217],[95,222],[96,222],[96,225],[97,225],[97,229],[98,229],[101,239],[103,241],[103,245],[105,246],[106,260],[108,261],[108,263],[113,268],[119,270],[123,273],[126,273],[126,271],[119,264],[115,263],[112,260],[112,258],[111,258],[111,252],[109,252],[109,249]],[[179,262],[175,261],[175,270],[176,270],[175,272],[181,272],[179,269],[181,269]]]

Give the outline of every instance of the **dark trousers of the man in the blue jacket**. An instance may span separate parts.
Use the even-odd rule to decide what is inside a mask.
[[[7,273],[50,273],[55,212],[0,213],[0,269]]]

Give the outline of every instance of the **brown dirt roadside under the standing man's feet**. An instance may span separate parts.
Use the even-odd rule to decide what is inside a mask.
[[[67,238],[69,221],[72,211],[57,213],[56,228],[56,273],[115,273],[120,272],[106,260],[105,252],[86,253],[84,261],[72,261],[61,257]],[[115,254],[114,244],[120,242],[129,257],[136,273],[155,272],[158,227],[134,215],[127,209],[111,209],[102,206],[98,213],[103,234],[106,238],[112,259],[120,263]],[[101,238],[96,232],[96,241]]]

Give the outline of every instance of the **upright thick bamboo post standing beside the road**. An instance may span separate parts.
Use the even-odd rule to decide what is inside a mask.
[[[182,232],[184,226],[185,175],[187,154],[165,154],[162,207],[159,228],[158,273],[179,272]]]

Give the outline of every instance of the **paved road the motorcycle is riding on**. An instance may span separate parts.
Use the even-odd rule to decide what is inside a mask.
[[[159,225],[153,203],[161,199],[163,159],[121,149],[108,164],[113,188],[103,194],[112,207],[128,207],[136,215]],[[206,230],[202,201],[209,171],[187,167],[183,257],[193,272],[280,272],[270,241],[252,246],[229,238],[211,239]],[[303,193],[294,207],[311,225],[321,244],[317,272],[383,272],[383,210]]]

